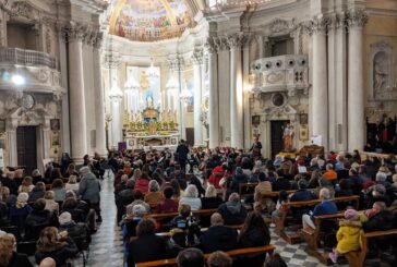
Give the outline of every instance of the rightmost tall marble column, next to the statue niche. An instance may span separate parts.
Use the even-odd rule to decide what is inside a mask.
[[[364,146],[364,83],[362,27],[368,21],[361,10],[348,14],[348,149],[362,150]]]

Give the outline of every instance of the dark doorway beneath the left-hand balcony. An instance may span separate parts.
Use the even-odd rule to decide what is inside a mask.
[[[19,126],[16,129],[17,166],[25,168],[25,173],[37,169],[36,126]]]

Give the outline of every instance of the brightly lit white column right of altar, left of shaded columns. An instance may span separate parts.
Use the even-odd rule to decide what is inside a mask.
[[[194,78],[194,145],[203,145],[202,114],[202,62],[203,52],[193,53],[193,78]]]

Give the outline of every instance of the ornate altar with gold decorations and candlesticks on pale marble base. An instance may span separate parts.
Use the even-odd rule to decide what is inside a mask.
[[[124,141],[127,149],[156,148],[163,150],[168,147],[177,149],[179,131],[177,114],[171,111],[163,111],[148,107],[142,113],[124,116]]]

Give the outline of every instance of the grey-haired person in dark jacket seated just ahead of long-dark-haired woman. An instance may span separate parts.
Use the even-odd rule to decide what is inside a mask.
[[[229,201],[221,204],[217,211],[221,215],[227,226],[241,224],[246,217],[246,209],[241,204],[240,196],[237,193],[232,193],[229,196]]]

